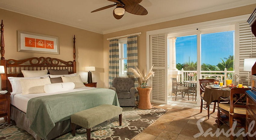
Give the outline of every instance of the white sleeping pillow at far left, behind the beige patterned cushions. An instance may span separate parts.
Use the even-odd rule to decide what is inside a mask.
[[[8,77],[8,79],[11,83],[12,94],[18,94],[18,93],[22,93],[20,79],[40,79],[40,78],[46,78],[46,77],[49,77],[49,75],[43,75],[40,77]]]

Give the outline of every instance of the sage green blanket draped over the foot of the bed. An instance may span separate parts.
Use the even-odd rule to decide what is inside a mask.
[[[70,119],[70,115],[76,112],[103,104],[120,106],[117,93],[95,88],[32,98],[27,105],[27,117],[32,121],[30,129],[44,139],[55,123]]]

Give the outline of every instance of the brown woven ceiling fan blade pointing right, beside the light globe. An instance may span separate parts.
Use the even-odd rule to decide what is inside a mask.
[[[125,11],[135,15],[147,15],[148,11],[141,5],[125,5],[123,7]]]

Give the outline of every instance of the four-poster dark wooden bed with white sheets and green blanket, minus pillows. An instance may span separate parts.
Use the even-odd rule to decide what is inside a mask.
[[[50,57],[6,60],[2,23],[0,62],[5,67],[5,73],[1,75],[2,90],[12,92],[8,77],[23,77],[22,70],[68,69],[68,74],[76,73],[75,39],[74,35],[72,61]],[[71,131],[71,114],[102,104],[119,106],[114,90],[80,87],[58,93],[11,94],[11,119],[35,139],[53,139]]]

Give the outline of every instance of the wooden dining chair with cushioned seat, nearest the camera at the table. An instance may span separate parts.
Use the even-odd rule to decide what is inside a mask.
[[[219,97],[218,100],[218,128],[220,128],[220,123],[227,125],[221,118],[220,111],[226,116],[229,116],[229,128],[232,128],[233,121],[237,120],[241,125],[236,127],[245,128],[245,122],[242,121],[246,118],[246,90],[249,88],[232,88],[230,91],[230,96],[228,98]],[[222,102],[220,102],[222,101]],[[226,101],[226,102],[223,102]],[[230,135],[230,139],[233,140],[233,135]]]

